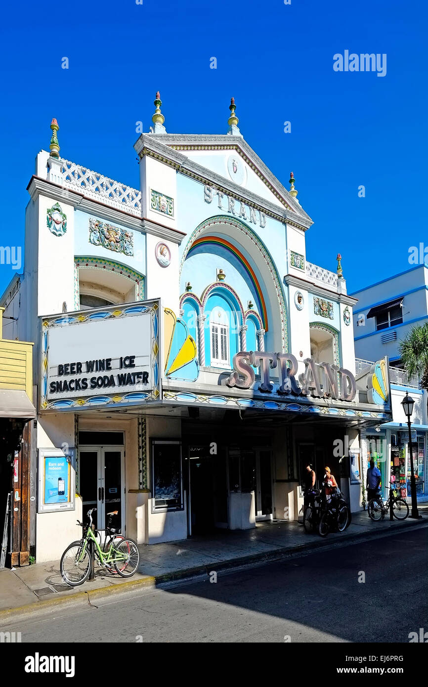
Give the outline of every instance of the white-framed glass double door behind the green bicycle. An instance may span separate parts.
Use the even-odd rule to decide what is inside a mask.
[[[124,532],[124,449],[80,447],[79,463],[83,521],[87,521],[88,510],[96,508],[93,522],[102,530],[106,526],[107,514],[117,510],[111,524],[115,528],[121,527]]]

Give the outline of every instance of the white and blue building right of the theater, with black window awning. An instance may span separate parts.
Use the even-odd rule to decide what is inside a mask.
[[[357,355],[357,375],[364,373],[372,361],[385,355],[390,359],[393,421],[383,423],[378,433],[362,436],[366,463],[370,455],[379,461],[382,484],[389,487],[389,475],[400,480],[410,497],[409,431],[401,401],[408,391],[414,398],[412,415],[412,453],[418,498],[428,494],[428,417],[427,392],[420,389],[418,379],[409,379],[400,361],[399,343],[416,324],[428,322],[428,268],[424,264],[412,267],[372,286],[352,294],[358,298],[354,308],[354,341]],[[389,463],[390,471],[387,470]]]

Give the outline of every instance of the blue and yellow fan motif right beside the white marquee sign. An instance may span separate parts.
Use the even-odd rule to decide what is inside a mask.
[[[164,350],[166,376],[192,382],[198,379],[196,341],[170,308],[164,308]]]

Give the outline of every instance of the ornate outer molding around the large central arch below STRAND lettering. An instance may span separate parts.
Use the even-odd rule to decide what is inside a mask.
[[[183,270],[183,264],[185,262],[185,258],[187,258],[189,251],[192,249],[195,241],[201,236],[204,232],[207,232],[207,230],[210,229],[215,229],[216,226],[227,226],[227,227],[232,227],[233,229],[236,229],[237,232],[244,234],[249,241],[251,242],[252,245],[256,248],[258,253],[260,254],[260,257],[262,258],[262,261],[264,262],[264,265],[267,267],[269,274],[271,276],[271,282],[273,284],[273,288],[275,289],[275,294],[276,297],[278,298],[278,308],[280,311],[280,327],[281,327],[281,346],[282,346],[282,352],[288,349],[289,347],[289,335],[288,335],[288,325],[287,325],[287,311],[286,311],[286,304],[285,304],[285,299],[284,299],[284,293],[282,291],[282,286],[281,286],[281,281],[278,275],[278,271],[275,268],[275,265],[273,264],[273,260],[269,254],[269,251],[267,251],[267,248],[264,246],[262,241],[260,241],[260,238],[257,236],[257,234],[250,229],[243,221],[240,221],[234,217],[226,217],[224,215],[216,215],[213,217],[210,217],[201,224],[199,224],[196,229],[190,234],[188,243],[185,245],[185,249],[183,251],[183,256],[181,257],[181,262],[180,262],[180,274],[179,276],[181,277],[181,271]],[[225,245],[225,239],[216,237],[218,239],[218,243],[222,243]],[[227,242],[229,243],[229,242]],[[233,244],[229,244],[233,246]],[[254,275],[255,276],[255,275]],[[259,284],[260,288],[260,284]],[[268,330],[269,328],[269,323],[265,322],[263,326],[264,330]]]

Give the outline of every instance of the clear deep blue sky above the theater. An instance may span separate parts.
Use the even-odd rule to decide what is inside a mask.
[[[143,2],[3,9],[0,245],[23,246],[53,116],[60,155],[137,186],[135,122],[148,131],[159,89],[171,133],[225,133],[234,95],[249,145],[287,188],[295,174],[308,260],[334,270],[340,252],[348,292],[411,267],[428,246],[427,3]],[[333,71],[346,49],[386,53],[386,76]],[[13,274],[0,265],[0,293]]]

